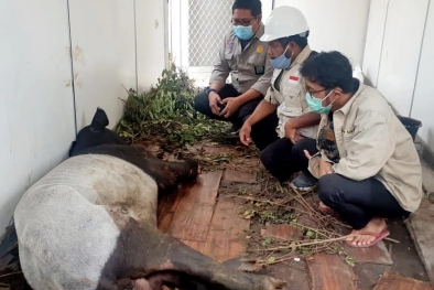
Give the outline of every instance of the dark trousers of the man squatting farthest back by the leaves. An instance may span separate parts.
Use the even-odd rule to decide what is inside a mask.
[[[241,95],[232,85],[226,84],[220,92],[218,93],[221,100],[229,97],[238,97]],[[209,107],[208,95],[203,92],[195,97],[194,107],[197,111],[208,116],[211,119],[221,120],[221,121],[230,121],[239,127],[249,118],[249,116],[254,111],[258,104],[262,100],[262,98],[257,98],[243,104],[236,112],[234,112],[229,118],[220,117],[214,115],[211,108]],[[225,108],[225,105],[219,105],[220,111]]]

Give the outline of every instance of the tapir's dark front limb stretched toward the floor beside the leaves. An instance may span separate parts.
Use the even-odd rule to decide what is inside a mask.
[[[87,148],[80,151],[80,154],[107,154],[126,160],[151,175],[159,185],[159,190],[169,190],[181,182],[193,181],[199,173],[198,164],[195,161],[163,161],[138,146],[98,146]]]

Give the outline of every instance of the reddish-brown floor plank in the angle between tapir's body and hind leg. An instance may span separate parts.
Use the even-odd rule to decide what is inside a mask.
[[[178,239],[205,241],[214,205],[182,200],[173,215],[169,234]]]

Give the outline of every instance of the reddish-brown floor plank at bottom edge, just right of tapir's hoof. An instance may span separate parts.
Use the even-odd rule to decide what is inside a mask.
[[[316,254],[306,259],[312,290],[356,290],[352,268],[338,255]]]

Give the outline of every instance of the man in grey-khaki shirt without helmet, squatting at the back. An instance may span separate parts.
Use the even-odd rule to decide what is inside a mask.
[[[209,87],[195,98],[195,109],[218,120],[230,121],[227,132],[236,133],[253,112],[270,86],[272,67],[260,0],[236,0],[232,30],[226,34],[214,65]],[[231,84],[226,79],[231,74]]]

